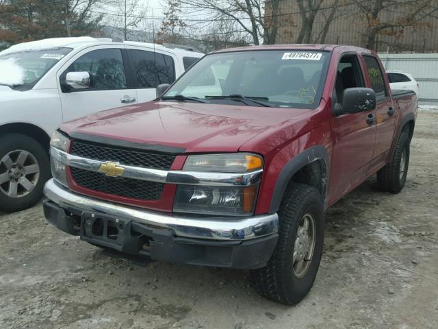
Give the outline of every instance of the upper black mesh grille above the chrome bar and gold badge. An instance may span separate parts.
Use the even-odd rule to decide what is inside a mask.
[[[169,170],[172,167],[173,160],[175,160],[175,156],[168,154],[148,153],[83,141],[73,141],[70,153],[83,158],[163,170]]]

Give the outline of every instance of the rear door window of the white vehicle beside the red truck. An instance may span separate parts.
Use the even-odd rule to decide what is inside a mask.
[[[129,50],[131,67],[138,88],[157,88],[175,81],[173,58],[153,51]]]

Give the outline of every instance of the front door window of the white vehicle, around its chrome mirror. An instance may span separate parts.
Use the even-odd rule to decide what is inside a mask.
[[[65,84],[66,73],[88,72],[92,76],[90,88],[80,90],[115,90],[127,88],[125,66],[120,49],[99,49],[79,57],[61,76]]]

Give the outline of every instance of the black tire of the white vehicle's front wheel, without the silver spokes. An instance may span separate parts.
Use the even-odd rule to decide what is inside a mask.
[[[18,210],[23,210],[34,206],[42,197],[42,188],[44,188],[44,183],[49,180],[51,172],[50,172],[50,162],[49,162],[49,154],[47,151],[33,138],[29,136],[25,136],[22,134],[1,134],[0,135],[0,178],[1,181],[4,180],[1,176],[2,174],[8,173],[9,169],[6,167],[6,162],[2,162],[2,159],[5,158],[6,155],[10,154],[15,150],[23,150],[29,152],[30,156],[25,158],[25,162],[23,167],[29,163],[29,159],[31,159],[34,163],[38,164],[38,176],[32,174],[25,174],[25,178],[29,178],[29,180],[34,180],[32,183],[34,187],[30,189],[30,191],[26,193],[27,190],[23,190],[23,186],[18,184],[18,193],[16,197],[11,197],[6,194],[9,190],[10,181],[3,182],[0,184],[0,211],[3,212],[15,212]],[[10,158],[12,162],[14,162],[14,153],[11,154]],[[18,163],[18,160],[17,160]]]

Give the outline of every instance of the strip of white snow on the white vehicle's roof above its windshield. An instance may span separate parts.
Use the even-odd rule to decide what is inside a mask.
[[[14,45],[0,52],[0,56],[8,53],[18,53],[21,51],[40,51],[45,49],[55,49],[60,47],[68,47],[80,42],[96,42],[96,38],[90,36],[78,36],[73,38],[50,38],[38,41],[23,42]]]

